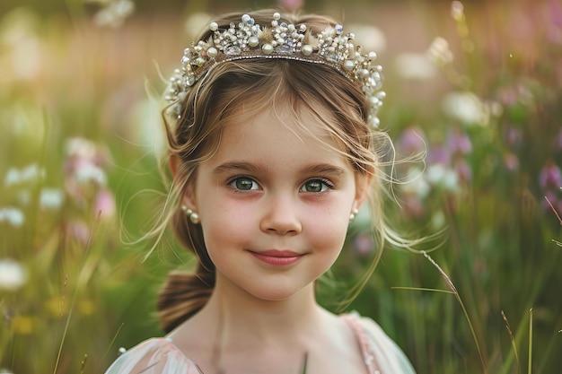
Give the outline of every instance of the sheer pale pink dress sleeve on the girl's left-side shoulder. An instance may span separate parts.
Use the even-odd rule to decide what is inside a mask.
[[[152,338],[123,353],[105,374],[201,374],[168,338]]]

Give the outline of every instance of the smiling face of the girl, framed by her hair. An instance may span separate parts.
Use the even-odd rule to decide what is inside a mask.
[[[349,214],[364,203],[370,179],[329,148],[337,144],[321,121],[304,111],[313,135],[304,134],[291,113],[277,108],[224,126],[183,198],[199,214],[215,291],[260,300],[312,291],[338,257]]]

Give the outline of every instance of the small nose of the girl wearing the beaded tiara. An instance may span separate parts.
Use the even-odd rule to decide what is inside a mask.
[[[260,229],[277,235],[295,235],[301,232],[303,226],[294,198],[271,196],[266,203]]]

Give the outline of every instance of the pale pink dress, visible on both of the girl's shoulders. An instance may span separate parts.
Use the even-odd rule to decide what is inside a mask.
[[[353,329],[369,374],[415,374],[404,353],[373,319],[342,315]],[[105,374],[203,374],[169,338],[153,338],[123,353]]]

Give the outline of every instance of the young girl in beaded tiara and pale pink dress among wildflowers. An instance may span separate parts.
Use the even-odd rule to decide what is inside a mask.
[[[315,282],[370,201],[381,244],[381,67],[331,20],[227,14],[184,51],[164,109],[171,228],[198,257],[158,307],[169,333],[108,374],[400,374],[373,320],[334,315]],[[369,199],[370,197],[370,199]]]

